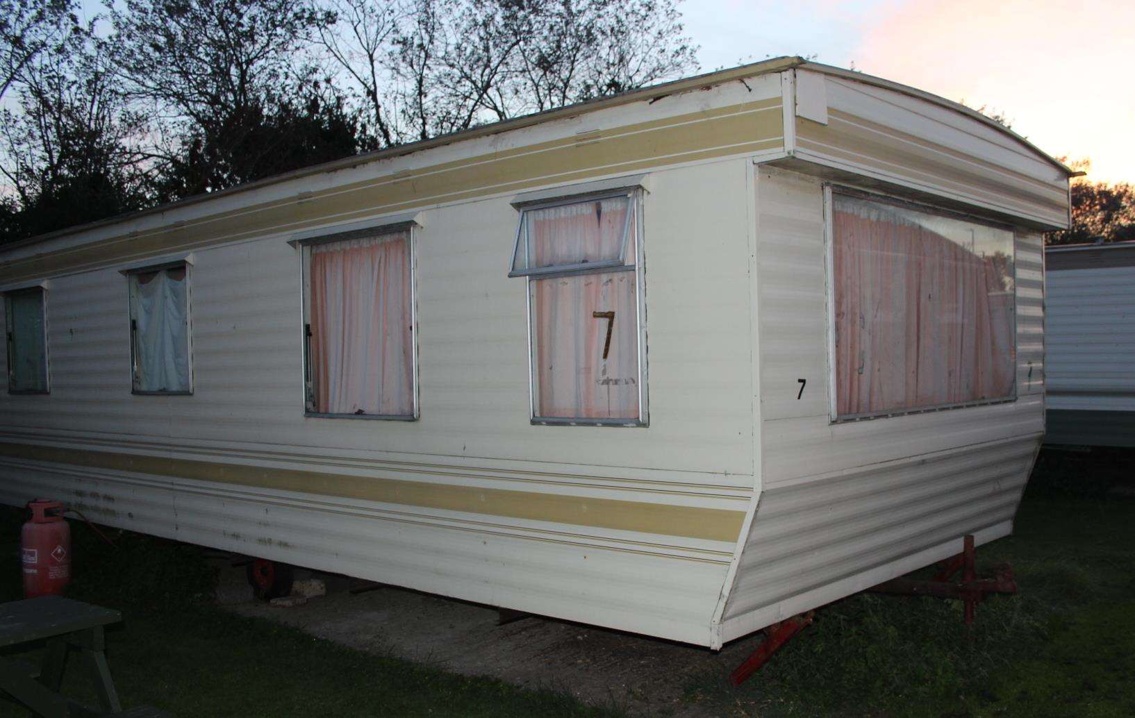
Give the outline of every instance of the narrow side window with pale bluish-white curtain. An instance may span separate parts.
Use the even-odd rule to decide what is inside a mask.
[[[140,269],[127,280],[134,394],[192,394],[188,265]]]

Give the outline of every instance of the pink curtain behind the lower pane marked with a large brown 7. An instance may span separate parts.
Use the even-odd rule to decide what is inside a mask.
[[[537,415],[638,419],[634,272],[533,279],[531,287]],[[596,316],[608,312],[613,319]]]

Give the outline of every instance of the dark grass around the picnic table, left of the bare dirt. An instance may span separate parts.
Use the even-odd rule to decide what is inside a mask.
[[[0,510],[0,601],[19,595],[22,513]],[[208,716],[605,716],[550,691],[352,650],[296,628],[237,616],[207,601],[213,572],[194,547],[108,531],[117,549],[72,522],[76,575],[68,594],[120,608],[108,659],[126,708]],[[37,653],[20,656],[34,659]],[[94,706],[72,656],[65,693]],[[77,670],[75,668],[78,668]],[[0,699],[0,716],[30,713]]]

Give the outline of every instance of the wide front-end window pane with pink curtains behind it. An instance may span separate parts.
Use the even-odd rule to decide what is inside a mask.
[[[1014,234],[833,192],[838,419],[1015,395]]]

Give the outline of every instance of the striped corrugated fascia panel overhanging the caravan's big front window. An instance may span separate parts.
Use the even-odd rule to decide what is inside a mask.
[[[1067,226],[1067,176],[1034,150],[925,100],[840,77],[823,82],[827,124],[798,118],[797,158]]]

